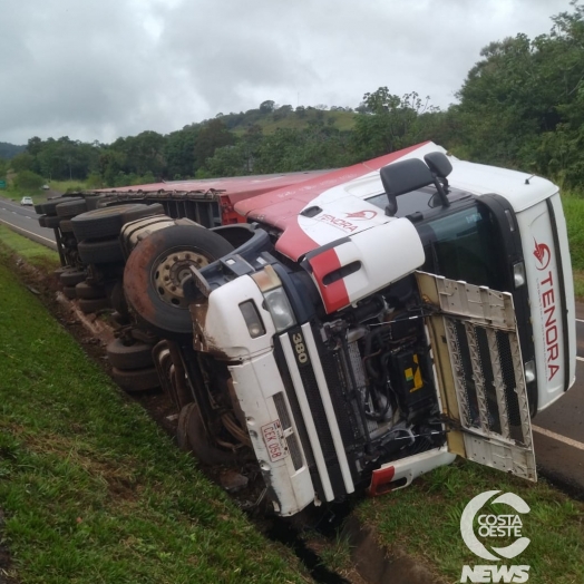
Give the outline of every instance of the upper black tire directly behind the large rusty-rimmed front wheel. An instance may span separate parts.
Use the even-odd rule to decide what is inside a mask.
[[[119,235],[123,225],[129,221],[159,215],[162,213],[164,213],[164,208],[159,203],[155,203],[154,205],[130,203],[88,211],[77,215],[71,221],[77,241],[104,240]]]

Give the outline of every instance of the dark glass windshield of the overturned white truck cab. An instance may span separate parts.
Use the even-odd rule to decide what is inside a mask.
[[[426,272],[495,290],[508,288],[497,223],[480,203],[416,226],[426,251]]]

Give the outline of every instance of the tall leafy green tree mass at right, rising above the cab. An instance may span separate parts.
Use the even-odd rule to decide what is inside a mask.
[[[517,35],[480,52],[458,91],[470,157],[584,184],[584,7],[552,18],[548,35]]]

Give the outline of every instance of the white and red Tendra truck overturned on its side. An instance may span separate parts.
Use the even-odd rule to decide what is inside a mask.
[[[432,143],[290,176],[242,179],[237,215],[181,185],[41,205],[69,298],[116,310],[118,382],[160,385],[179,441],[253,461],[282,516],[456,455],[535,480],[529,419],[575,376],[557,187]]]

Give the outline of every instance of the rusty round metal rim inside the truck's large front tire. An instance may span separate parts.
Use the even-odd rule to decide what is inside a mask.
[[[191,266],[201,270],[208,265],[208,259],[194,250],[178,250],[165,255],[154,269],[154,284],[158,298],[173,308],[188,308],[183,291]]]

